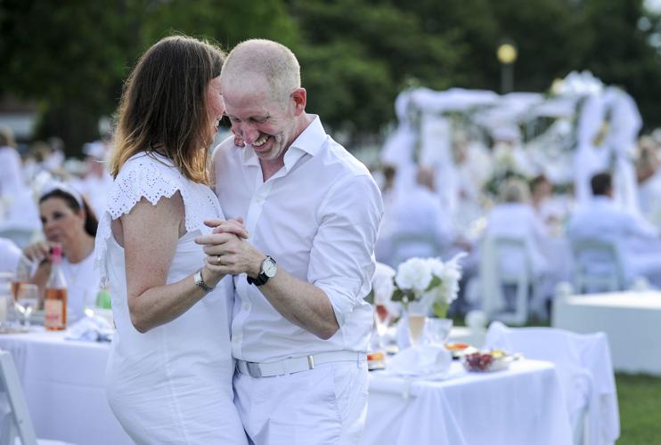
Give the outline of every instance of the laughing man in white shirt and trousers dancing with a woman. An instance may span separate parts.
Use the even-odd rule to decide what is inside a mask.
[[[216,193],[228,221],[198,242],[211,267],[234,275],[243,425],[259,444],[358,443],[379,189],[306,113],[298,61],[282,44],[237,45],[221,85],[244,147],[229,139],[216,148]],[[240,218],[247,240],[227,233]]]

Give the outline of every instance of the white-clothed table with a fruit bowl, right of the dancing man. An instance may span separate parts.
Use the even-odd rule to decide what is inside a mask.
[[[494,373],[453,367],[456,376],[443,381],[371,373],[363,445],[572,443],[553,364],[521,360]]]

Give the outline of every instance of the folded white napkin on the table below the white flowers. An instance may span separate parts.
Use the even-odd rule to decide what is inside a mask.
[[[388,360],[388,372],[401,376],[445,374],[453,358],[442,344],[422,344],[396,354]]]

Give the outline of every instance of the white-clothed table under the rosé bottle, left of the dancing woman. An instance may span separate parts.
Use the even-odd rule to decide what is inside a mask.
[[[0,335],[12,352],[37,437],[78,445],[132,444],[103,389],[109,344],[64,340],[63,333]]]

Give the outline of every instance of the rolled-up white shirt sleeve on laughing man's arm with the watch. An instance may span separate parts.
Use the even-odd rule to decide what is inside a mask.
[[[369,174],[340,179],[319,207],[307,278],[328,296],[340,328],[370,292],[382,214],[381,194]]]

